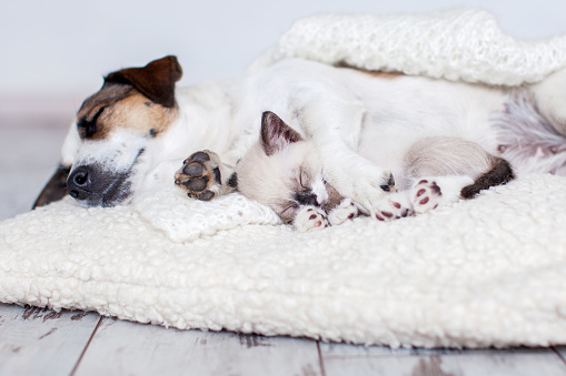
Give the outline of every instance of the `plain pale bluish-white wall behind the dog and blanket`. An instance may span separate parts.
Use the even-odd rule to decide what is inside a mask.
[[[182,83],[236,78],[292,21],[327,12],[491,11],[519,39],[566,33],[564,0],[0,0],[0,98],[73,98],[112,70],[178,55]]]

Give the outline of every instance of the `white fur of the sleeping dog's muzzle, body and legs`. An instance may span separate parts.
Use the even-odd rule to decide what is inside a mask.
[[[532,85],[540,113],[566,129],[566,70]],[[374,78],[304,60],[285,60],[236,82],[210,82],[176,91],[178,119],[156,139],[116,132],[110,140],[81,141],[73,124],[62,150],[63,163],[101,161],[109,169],[132,166],[135,194],[171,184],[179,163],[201,149],[235,164],[257,140],[260,115],[272,111],[320,152],[326,177],[364,211],[384,196],[380,185],[401,166],[398,138],[455,135],[502,154],[493,114],[505,110],[510,93],[526,89],[489,88],[419,77]],[[132,114],[135,115],[135,114]],[[377,166],[356,150],[361,130],[379,123],[371,138],[383,140]],[[544,138],[544,136],[543,136]],[[132,146],[135,145],[135,146]],[[138,151],[143,149],[139,155]],[[135,150],[135,152],[131,152]],[[505,153],[503,153],[505,156]],[[517,172],[548,172],[547,155],[510,159]],[[554,171],[563,173],[563,169]],[[129,195],[129,197],[133,197]]]

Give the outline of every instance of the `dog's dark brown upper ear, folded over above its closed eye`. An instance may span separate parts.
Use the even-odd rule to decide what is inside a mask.
[[[108,74],[106,83],[131,84],[151,101],[166,108],[175,105],[175,83],[182,75],[176,57],[153,60],[143,68],[128,68]]]

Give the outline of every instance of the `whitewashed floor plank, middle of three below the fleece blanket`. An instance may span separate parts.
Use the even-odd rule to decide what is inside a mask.
[[[77,367],[85,375],[321,375],[315,341],[177,331],[105,318]]]

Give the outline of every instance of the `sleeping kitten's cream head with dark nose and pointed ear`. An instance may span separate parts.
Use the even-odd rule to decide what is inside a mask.
[[[237,172],[238,190],[270,206],[286,223],[304,205],[328,212],[342,199],[325,181],[312,142],[272,112],[264,113],[259,141],[240,160]]]

